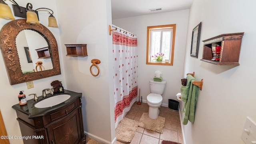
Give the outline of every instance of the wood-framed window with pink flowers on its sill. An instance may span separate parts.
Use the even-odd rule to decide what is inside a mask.
[[[146,64],[173,65],[176,24],[148,26]]]

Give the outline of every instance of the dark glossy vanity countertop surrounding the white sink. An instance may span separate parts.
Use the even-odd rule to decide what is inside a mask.
[[[60,104],[57,104],[57,105],[51,106],[51,107],[47,107],[47,108],[36,108],[34,106],[36,103],[38,103],[46,98],[50,98],[52,96],[56,96],[56,95],[60,95],[60,94],[68,94],[68,95],[70,95],[70,98]],[[42,98],[42,96],[39,96],[37,101],[35,101],[34,99],[28,100],[27,104],[24,106],[20,106],[20,104],[15,104],[14,106],[12,106],[12,108],[15,110],[18,110],[24,114],[27,114],[28,118],[35,118],[38,116],[44,116],[48,112],[51,112],[58,108],[61,108],[62,106],[66,106],[66,105],[70,104],[70,102],[74,102],[76,100],[76,98],[78,98],[78,97],[82,97],[82,93],[72,92],[70,90],[64,90],[64,92],[62,92],[62,93],[54,92],[53,95],[47,94],[45,98]]]

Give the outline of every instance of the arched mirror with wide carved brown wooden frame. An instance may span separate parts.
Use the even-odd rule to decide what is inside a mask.
[[[22,54],[19,48],[17,47],[17,44],[20,43],[18,40],[16,40],[17,36],[22,33],[24,30],[30,30],[33,32],[36,32],[36,34],[39,34],[40,37],[39,39],[44,39],[46,42],[46,47],[48,47],[48,52],[47,54],[50,54],[50,57],[48,58],[48,61],[51,61],[49,69],[42,70],[36,72],[36,70],[32,70],[30,72],[24,72],[25,70],[23,69],[23,66],[21,67],[21,61],[27,61],[26,55]],[[31,33],[31,32],[28,32]],[[19,36],[22,37],[22,36]],[[34,37],[34,36],[25,36],[26,39]],[[58,45],[56,42],[56,39],[52,32],[48,30],[45,26],[42,24],[39,25],[32,25],[32,24],[27,24],[26,19],[17,19],[17,20],[12,20],[11,22],[8,22],[2,27],[2,30],[0,32],[0,46],[1,46],[1,51],[2,51],[2,56],[4,58],[4,62],[6,65],[6,70],[9,76],[10,84],[19,84],[23,82],[29,82],[32,80],[38,80],[41,78],[47,78],[50,76],[55,76],[58,74],[61,74],[60,72],[60,59],[59,59],[59,54],[58,54]],[[32,47],[37,47],[37,45],[40,43],[39,41],[44,41],[44,40],[38,40],[34,39],[32,40],[32,44],[34,46]],[[26,40],[19,40],[21,42],[24,42]],[[45,47],[45,46],[43,46]],[[38,48],[43,48],[38,46]],[[33,48],[30,51],[35,51],[35,49],[38,48]],[[22,48],[24,51],[24,47]],[[36,61],[42,61],[39,55],[36,58],[35,61],[32,62],[34,64],[34,68],[36,68]],[[51,66],[52,65],[52,66]]]

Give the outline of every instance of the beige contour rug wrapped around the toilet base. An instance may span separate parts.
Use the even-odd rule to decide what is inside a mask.
[[[143,113],[140,118],[139,127],[162,134],[164,132],[164,122],[165,118],[162,116],[158,116],[158,118],[152,119],[148,117],[148,113]]]

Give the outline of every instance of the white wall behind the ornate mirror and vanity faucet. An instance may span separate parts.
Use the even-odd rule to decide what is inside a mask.
[[[12,3],[10,1],[5,1],[10,8],[12,9]],[[16,2],[23,7],[26,7],[26,4],[28,2],[31,2],[29,0],[16,0]],[[56,4],[52,0],[34,0],[32,2],[33,4],[33,9],[36,8],[50,8],[54,12],[56,12]],[[55,36],[57,43],[58,43],[58,48],[59,48],[59,53],[62,53],[62,50],[60,48],[60,31],[58,28],[50,28],[48,27],[48,14],[46,12],[39,12],[39,19],[41,24],[46,26],[52,34]],[[16,17],[18,19],[19,17]],[[56,17],[58,18],[58,17]],[[0,28],[4,26],[4,24],[8,23],[8,20],[0,19]],[[24,48],[23,48],[24,49]],[[26,60],[26,57],[24,56],[24,59]],[[50,88],[52,87],[50,83],[54,80],[60,80],[63,83],[64,88],[66,88],[66,80],[64,78],[64,69],[63,69],[63,63],[62,63],[62,55],[60,55],[60,68],[61,68],[61,75],[58,76],[52,76],[49,78],[43,78],[40,80],[34,80],[34,88],[27,89],[26,83],[21,83],[21,84],[15,84],[15,85],[10,85],[9,79],[8,79],[8,74],[5,68],[4,64],[4,59],[2,57],[2,54],[0,54],[0,65],[2,68],[0,69],[0,90],[1,90],[1,100],[0,100],[0,109],[1,113],[3,116],[4,124],[6,126],[6,131],[9,136],[21,136],[20,133],[20,126],[18,124],[18,121],[16,120],[16,112],[14,109],[12,109],[12,106],[14,104],[18,104],[18,94],[20,90],[24,90],[24,93],[26,94],[26,98],[32,99],[32,96],[28,96],[29,94],[37,94],[37,96],[42,95],[42,90],[44,88]],[[23,144],[22,140],[15,140],[15,139],[10,139],[11,144]]]

